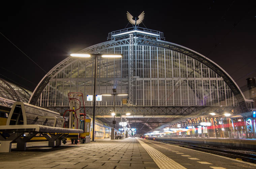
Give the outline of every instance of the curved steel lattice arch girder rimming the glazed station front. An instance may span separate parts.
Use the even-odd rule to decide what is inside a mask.
[[[100,53],[102,50],[106,50],[107,48],[114,48],[114,47],[119,47],[119,46],[129,46],[129,38],[128,39],[122,39],[119,41],[107,41],[103,42],[100,44],[96,44],[93,46],[90,46],[88,48],[85,48],[79,52],[84,52],[84,53]],[[135,43],[134,43],[135,44]],[[237,101],[239,102],[239,106],[242,110],[242,113],[249,112],[246,102],[245,102],[245,97],[239,87],[236,85],[234,80],[220,67],[218,66],[215,62],[210,60],[209,58],[197,53],[196,51],[193,51],[189,48],[186,48],[184,46],[170,43],[167,41],[161,41],[161,40],[151,40],[151,39],[145,39],[145,38],[140,38],[138,37],[136,39],[136,45],[145,45],[145,46],[155,46],[155,47],[161,47],[173,51],[180,52],[182,54],[185,54],[195,60],[198,60],[205,66],[209,67],[212,69],[214,72],[216,72],[220,77],[223,78],[225,83],[230,87],[231,91],[235,95]],[[49,73],[47,73],[44,78],[39,82],[37,85],[36,89],[34,90],[29,103],[30,104],[36,104],[41,92],[43,91],[44,87],[49,83],[50,79],[54,76],[54,74],[58,73],[60,70],[62,70],[64,67],[67,65],[71,64],[73,61],[76,59],[68,57],[64,59],[60,64],[55,66]]]

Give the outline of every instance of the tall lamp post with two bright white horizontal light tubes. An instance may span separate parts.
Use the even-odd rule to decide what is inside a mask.
[[[123,54],[92,54],[92,53],[72,53],[71,57],[88,58],[91,56],[95,57],[95,69],[94,69],[94,95],[93,95],[93,129],[92,129],[92,141],[94,141],[95,131],[95,100],[96,100],[96,77],[97,77],[97,56],[106,58],[120,58]]]

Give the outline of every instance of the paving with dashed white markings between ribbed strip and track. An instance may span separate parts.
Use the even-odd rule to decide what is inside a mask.
[[[140,140],[188,169],[256,168],[256,164],[252,163],[241,162],[235,159],[231,160],[227,157],[186,149],[177,145],[170,145],[147,139]]]

